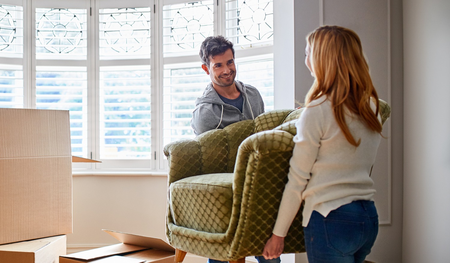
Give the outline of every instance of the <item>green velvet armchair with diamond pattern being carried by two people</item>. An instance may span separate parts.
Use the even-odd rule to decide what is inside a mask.
[[[166,145],[166,236],[176,249],[175,262],[186,252],[230,263],[262,254],[288,180],[302,111],[268,111]],[[390,107],[381,100],[380,112],[384,122]],[[305,252],[301,211],[283,253]]]

